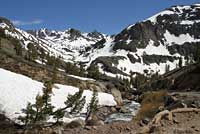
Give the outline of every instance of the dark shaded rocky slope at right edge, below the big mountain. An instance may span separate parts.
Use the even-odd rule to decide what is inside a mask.
[[[146,83],[144,91],[168,89],[171,91],[200,91],[200,63],[191,64],[172,70],[161,78]]]

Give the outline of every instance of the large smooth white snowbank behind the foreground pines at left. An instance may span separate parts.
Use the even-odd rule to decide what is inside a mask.
[[[34,103],[38,93],[42,93],[43,83],[32,80],[21,74],[16,74],[0,68],[0,110],[15,120],[21,115],[21,109],[25,108],[28,102]],[[52,105],[55,108],[64,107],[64,101],[68,94],[74,94],[79,89],[72,86],[55,84],[52,95]],[[92,97],[92,91],[84,90],[86,106]],[[99,105],[115,106],[116,102],[111,94],[98,93]]]

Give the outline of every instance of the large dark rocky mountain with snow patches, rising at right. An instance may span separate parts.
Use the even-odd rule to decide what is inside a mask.
[[[200,46],[200,5],[173,6],[122,30],[99,49],[88,54],[102,71],[165,73],[180,60],[193,62]],[[181,58],[181,59],[180,59]]]

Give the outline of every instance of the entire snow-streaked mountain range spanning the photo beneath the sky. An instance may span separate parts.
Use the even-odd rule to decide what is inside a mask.
[[[183,65],[192,63],[200,47],[200,4],[170,7],[115,36],[76,29],[23,31],[8,20],[0,22],[5,33],[22,40],[25,48],[35,42],[65,61],[97,65],[112,77],[130,72],[163,74],[180,60]]]

